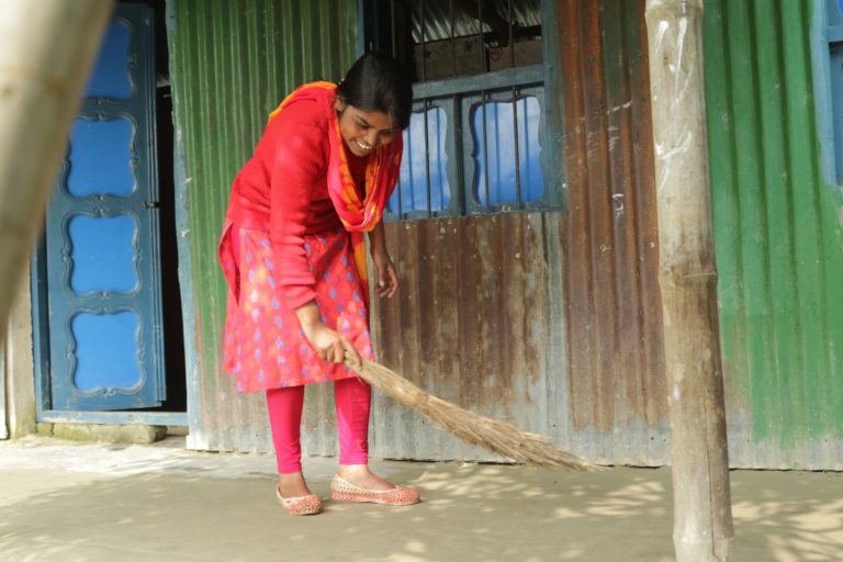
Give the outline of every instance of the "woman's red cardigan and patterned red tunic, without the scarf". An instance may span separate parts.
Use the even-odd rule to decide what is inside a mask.
[[[322,361],[302,334],[295,308],[311,301],[372,358],[350,238],[328,195],[328,117],[316,102],[289,104],[232,188],[220,245],[231,289],[223,355],[244,392],[355,376]],[[360,190],[367,157],[346,157]]]

